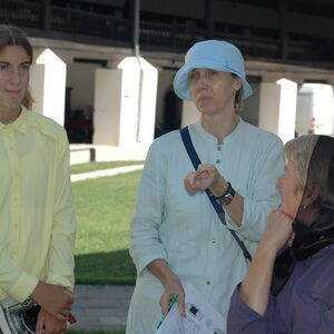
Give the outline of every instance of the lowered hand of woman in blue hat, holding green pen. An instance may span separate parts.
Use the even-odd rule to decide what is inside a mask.
[[[165,292],[160,297],[161,312],[164,316],[167,315],[169,303],[173,296],[175,295],[175,293],[178,293],[178,296],[176,298],[176,304],[178,306],[179,314],[181,316],[186,316],[185,291],[180,279],[176,275],[165,284]]]

